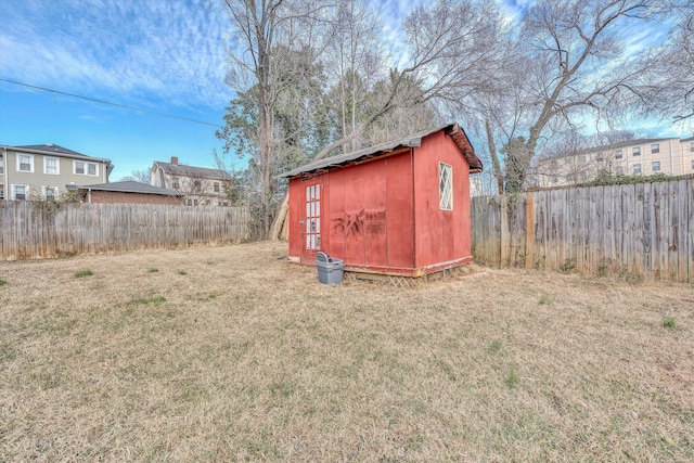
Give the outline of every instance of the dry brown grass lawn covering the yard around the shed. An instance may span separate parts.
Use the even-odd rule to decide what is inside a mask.
[[[692,285],[285,254],[0,262],[0,461],[694,461]]]

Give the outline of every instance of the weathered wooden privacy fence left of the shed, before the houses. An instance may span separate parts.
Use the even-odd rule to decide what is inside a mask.
[[[0,259],[237,243],[248,221],[242,207],[0,202]]]

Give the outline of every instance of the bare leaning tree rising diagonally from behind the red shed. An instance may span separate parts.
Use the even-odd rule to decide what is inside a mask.
[[[387,86],[377,92],[358,124],[326,145],[313,159],[350,145],[397,108],[436,103],[466,107],[468,97],[488,89],[489,70],[498,66],[502,17],[491,2],[438,0],[413,10],[404,23],[408,63],[390,69]],[[462,104],[461,104],[462,102]],[[354,114],[354,112],[352,112]],[[286,218],[286,202],[270,230],[270,237]]]

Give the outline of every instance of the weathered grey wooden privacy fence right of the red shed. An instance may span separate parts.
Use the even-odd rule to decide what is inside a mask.
[[[694,180],[473,197],[483,263],[694,283]]]

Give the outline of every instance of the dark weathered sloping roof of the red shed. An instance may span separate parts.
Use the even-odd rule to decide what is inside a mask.
[[[401,138],[398,140],[391,140],[386,143],[381,143],[374,146],[365,147],[358,151],[352,151],[351,153],[344,153],[337,156],[325,157],[323,159],[319,159],[312,163],[309,163],[305,166],[297,167],[296,169],[284,172],[278,178],[290,178],[295,177],[301,173],[312,172],[317,170],[327,170],[332,167],[344,166],[347,164],[352,164],[355,162],[360,162],[368,159],[370,157],[376,157],[383,153],[393,152],[400,147],[416,147],[422,145],[422,139],[428,137],[438,131],[445,130],[446,134],[451,136],[461,153],[467,159],[470,164],[470,172],[478,173],[483,170],[483,165],[479,158],[475,155],[475,150],[470,142],[470,139],[463,131],[463,129],[455,123],[447,124],[445,126],[437,127],[435,129],[429,129],[425,131],[421,131],[419,133],[414,133],[412,136]]]

